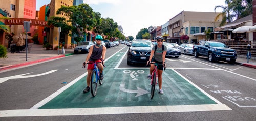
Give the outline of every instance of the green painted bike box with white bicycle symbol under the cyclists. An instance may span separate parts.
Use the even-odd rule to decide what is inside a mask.
[[[83,94],[85,76],[38,109],[217,104],[172,69],[166,69],[162,74],[164,94],[158,93],[157,85],[151,100],[150,80],[146,79],[149,68],[116,67],[126,51],[122,49],[105,61],[104,81],[102,85],[98,84],[95,97],[91,92]]]

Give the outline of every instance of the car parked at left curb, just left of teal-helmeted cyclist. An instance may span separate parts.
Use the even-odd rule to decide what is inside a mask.
[[[74,53],[89,53],[89,48],[92,45],[94,45],[92,41],[79,42],[78,46],[74,48]]]

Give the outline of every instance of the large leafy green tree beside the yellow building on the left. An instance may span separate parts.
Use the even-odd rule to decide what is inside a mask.
[[[83,38],[83,35],[86,35],[86,30],[92,30],[96,26],[97,22],[100,20],[96,12],[93,12],[93,9],[88,4],[80,4],[78,6],[61,6],[56,12],[59,14],[67,14],[72,25],[72,32],[75,33],[78,38],[75,40],[80,41]],[[95,14],[97,14],[95,18]]]

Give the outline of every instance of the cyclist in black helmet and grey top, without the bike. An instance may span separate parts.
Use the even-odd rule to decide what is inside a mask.
[[[162,36],[157,36],[157,45],[155,45],[150,54],[150,59],[147,62],[147,64],[150,64],[151,62],[153,63],[158,63],[157,68],[157,74],[158,74],[158,83],[159,83],[159,93],[163,94],[163,89],[162,89],[162,73],[163,73],[163,67],[165,66],[165,55],[167,52],[167,47],[163,45],[163,37]],[[156,49],[155,49],[156,48]],[[148,79],[151,79],[151,74],[155,68],[154,64],[150,65],[150,75],[147,76]]]

